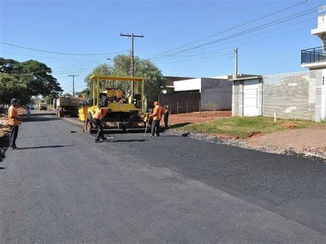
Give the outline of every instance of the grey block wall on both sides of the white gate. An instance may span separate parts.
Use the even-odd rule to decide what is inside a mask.
[[[259,100],[263,116],[320,121],[325,108],[322,102],[323,72],[326,69],[262,76]],[[262,88],[262,89],[260,89]],[[243,81],[233,82],[232,115],[243,115]]]

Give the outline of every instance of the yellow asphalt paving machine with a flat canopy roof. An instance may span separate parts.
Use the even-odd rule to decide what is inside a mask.
[[[94,114],[105,101],[109,112],[103,118],[105,131],[118,129],[129,131],[145,129],[149,113],[144,111],[144,81],[145,78],[122,76],[91,76],[91,98],[79,109],[79,120],[84,122],[84,131],[96,133]],[[110,84],[100,91],[100,84]]]

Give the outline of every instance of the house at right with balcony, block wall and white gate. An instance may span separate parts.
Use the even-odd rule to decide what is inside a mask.
[[[323,47],[301,51],[301,67],[309,71],[231,79],[232,115],[325,120],[325,10],[325,6],[320,8],[318,27],[312,30]]]

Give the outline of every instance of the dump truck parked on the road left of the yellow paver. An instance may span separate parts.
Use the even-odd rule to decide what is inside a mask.
[[[56,116],[63,117],[70,115],[70,117],[78,118],[78,109],[83,105],[86,98],[72,98],[61,97],[56,100]]]

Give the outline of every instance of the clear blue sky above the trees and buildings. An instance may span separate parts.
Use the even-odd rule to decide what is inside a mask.
[[[310,34],[317,25],[318,10],[235,38],[230,35],[323,5],[325,0],[309,0],[176,50],[190,49],[188,52],[169,54],[160,59],[153,56],[303,1],[0,0],[0,41],[54,52],[102,54],[50,54],[0,44],[0,56],[19,61],[39,60],[53,69],[54,77],[67,89],[72,89],[72,78],[67,75],[78,74],[77,91],[84,88],[85,76],[96,65],[110,63],[107,56],[113,58],[116,55],[105,53],[131,48],[129,38],[121,37],[120,32],[144,34],[144,38],[135,39],[135,54],[140,58],[152,58],[165,76],[232,74],[235,45],[239,47],[240,73],[299,71],[301,49],[322,45]],[[283,34],[285,32],[291,33]],[[221,38],[224,41],[191,49]],[[259,39],[263,40],[257,41]],[[122,53],[128,54],[128,51]]]

